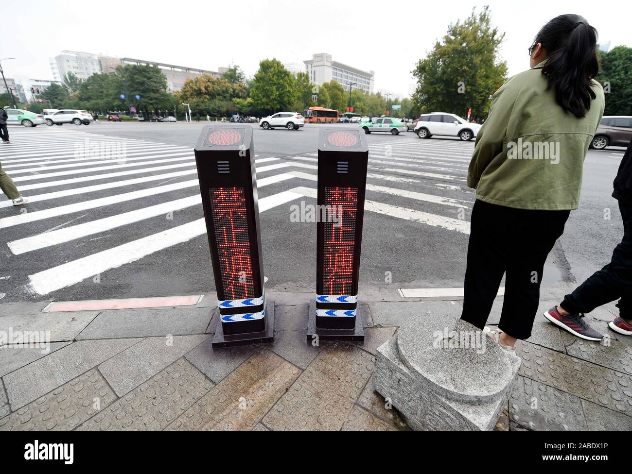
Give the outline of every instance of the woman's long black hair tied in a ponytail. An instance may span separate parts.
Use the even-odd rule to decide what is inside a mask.
[[[547,62],[547,90],[554,90],[557,104],[577,117],[584,117],[595,98],[592,78],[599,73],[597,30],[580,15],[560,15],[549,21],[535,36],[533,47],[542,43]]]

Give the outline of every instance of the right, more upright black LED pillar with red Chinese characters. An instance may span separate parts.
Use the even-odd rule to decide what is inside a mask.
[[[319,135],[316,300],[307,340],[363,341],[358,275],[368,146],[360,129]]]

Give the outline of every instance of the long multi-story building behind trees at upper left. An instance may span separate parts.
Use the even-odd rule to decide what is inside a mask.
[[[188,68],[165,64],[164,62],[145,61],[131,57],[102,56],[76,51],[62,51],[61,54],[51,59],[51,69],[54,80],[61,81],[68,73],[73,73],[80,79],[87,79],[92,74],[112,73],[121,64],[143,64],[156,66],[167,78],[167,92],[178,92],[185,85],[187,79],[193,79],[200,74],[210,74],[214,77],[221,76],[227,68],[219,68],[219,71],[206,71],[205,69]]]

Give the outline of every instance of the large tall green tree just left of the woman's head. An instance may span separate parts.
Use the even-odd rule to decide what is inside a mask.
[[[449,25],[442,42],[412,71],[417,80],[413,99],[420,108],[473,116],[486,114],[489,96],[507,78],[499,49],[504,33],[492,26],[489,7]]]

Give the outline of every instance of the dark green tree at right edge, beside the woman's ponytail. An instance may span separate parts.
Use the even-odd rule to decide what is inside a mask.
[[[597,80],[604,86],[606,116],[632,115],[632,48],[617,46],[600,52]]]

